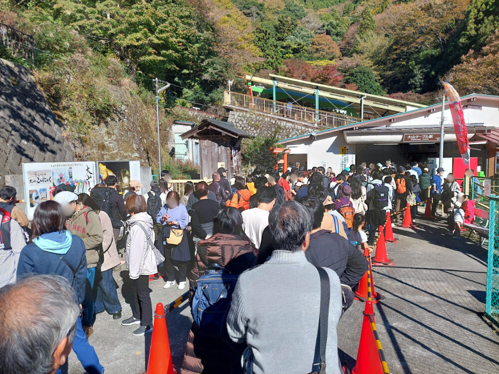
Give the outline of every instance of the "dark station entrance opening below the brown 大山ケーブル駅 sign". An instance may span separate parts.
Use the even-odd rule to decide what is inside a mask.
[[[365,162],[385,166],[386,160],[397,165],[405,165],[413,161],[427,162],[429,158],[438,157],[437,144],[357,144],[355,160],[358,164]]]

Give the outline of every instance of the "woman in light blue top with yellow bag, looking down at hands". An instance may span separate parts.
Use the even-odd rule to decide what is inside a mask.
[[[187,284],[187,267],[191,262],[191,253],[186,235],[186,227],[189,225],[189,214],[184,204],[180,203],[180,195],[177,191],[170,191],[166,196],[166,204],[156,216],[156,222],[163,225],[163,247],[165,250],[165,276],[164,288],[170,288],[175,284],[175,267],[179,269],[179,290],[183,290]],[[169,239],[171,242],[169,243]],[[180,243],[173,244],[180,239]]]

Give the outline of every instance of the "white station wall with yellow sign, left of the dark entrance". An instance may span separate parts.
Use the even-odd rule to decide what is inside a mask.
[[[317,137],[289,142],[284,145],[289,148],[290,155],[307,155],[307,166],[331,167],[338,174],[351,164],[355,164],[355,145],[347,144],[341,132],[329,136]]]

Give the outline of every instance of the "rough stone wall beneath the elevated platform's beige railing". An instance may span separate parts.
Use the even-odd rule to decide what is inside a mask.
[[[316,126],[304,122],[242,109],[232,109],[228,121],[250,135],[271,136],[275,134],[279,139],[292,138],[318,130]]]

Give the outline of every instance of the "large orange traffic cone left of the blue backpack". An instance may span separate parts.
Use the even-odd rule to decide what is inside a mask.
[[[162,303],[156,305],[154,328],[149,351],[149,363],[145,374],[176,374],[173,368],[170,341],[166,329],[165,308]]]

